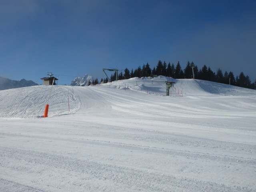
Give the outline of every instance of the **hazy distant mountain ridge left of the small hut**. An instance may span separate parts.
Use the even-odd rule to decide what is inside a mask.
[[[16,80],[0,77],[0,90],[35,86],[35,85],[38,85],[38,84],[31,80],[27,81],[25,79],[21,79],[19,81],[16,81]]]

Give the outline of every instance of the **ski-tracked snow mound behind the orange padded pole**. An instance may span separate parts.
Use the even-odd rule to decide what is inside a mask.
[[[40,85],[2,90],[0,94],[0,117],[36,118],[44,115],[52,86]],[[80,108],[80,101],[66,86],[53,86],[49,100],[50,116],[69,114]],[[68,102],[70,111],[68,110]]]

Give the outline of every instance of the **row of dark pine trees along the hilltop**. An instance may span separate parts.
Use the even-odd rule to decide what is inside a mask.
[[[239,76],[234,76],[233,72],[227,72],[225,71],[224,74],[220,70],[220,68],[217,70],[217,72],[213,72],[210,67],[207,67],[204,65],[202,69],[198,69],[196,64],[193,62],[187,63],[184,70],[182,70],[180,66],[180,62],[174,66],[174,64],[166,64],[166,62],[162,62],[161,60],[158,61],[158,64],[153,69],[150,68],[150,65],[147,63],[144,64],[142,67],[138,67],[135,70],[128,70],[126,68],[123,72],[120,72],[118,74],[118,80],[122,79],[129,79],[133,77],[148,77],[148,76],[166,76],[166,77],[172,77],[175,79],[182,79],[182,78],[193,78],[193,72],[192,72],[192,65],[194,66],[194,78],[200,79],[200,80],[208,80],[212,82],[218,82],[223,84],[230,84],[234,86],[244,87],[244,88],[250,88],[250,89],[256,89],[256,81],[254,83],[251,83],[249,76],[245,76],[243,72],[239,74]],[[116,80],[116,73],[112,74],[110,76],[111,81]],[[96,79],[93,82],[93,84],[98,84],[98,79]],[[101,81],[108,82],[108,79],[101,79]]]

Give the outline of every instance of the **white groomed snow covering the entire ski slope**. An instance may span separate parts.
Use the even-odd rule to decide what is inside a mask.
[[[256,191],[255,90],[163,76],[53,86],[42,118],[50,89],[0,91],[1,192]]]

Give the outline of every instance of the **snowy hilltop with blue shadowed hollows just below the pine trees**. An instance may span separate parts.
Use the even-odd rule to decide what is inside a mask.
[[[196,79],[174,79],[165,76],[143,79],[130,78],[107,83],[106,85],[118,89],[129,88],[130,90],[150,92],[150,94],[166,95],[166,82],[172,82],[170,88],[172,96],[249,96],[256,94],[256,90],[227,84]]]

